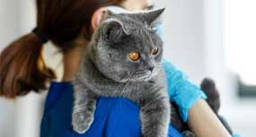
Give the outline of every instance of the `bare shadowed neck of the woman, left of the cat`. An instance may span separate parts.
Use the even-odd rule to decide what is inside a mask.
[[[76,40],[75,47],[64,53],[64,74],[62,81],[72,81],[75,72],[77,71],[80,60],[84,54],[84,47],[86,46],[84,40]]]

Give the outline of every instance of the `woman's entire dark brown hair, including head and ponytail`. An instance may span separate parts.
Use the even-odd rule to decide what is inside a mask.
[[[37,28],[62,50],[72,48],[81,34],[91,39],[93,13],[105,5],[125,0],[37,0]],[[46,89],[46,82],[56,76],[41,56],[43,42],[30,33],[15,40],[0,55],[0,95],[15,98],[30,90]]]

